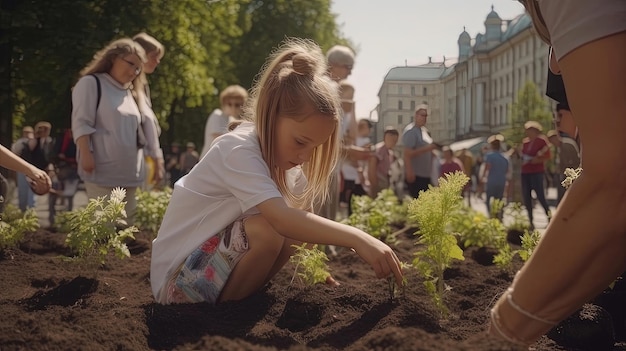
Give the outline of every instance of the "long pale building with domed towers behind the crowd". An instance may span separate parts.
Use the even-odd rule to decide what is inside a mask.
[[[387,72],[378,93],[376,135],[388,125],[403,130],[415,106],[427,103],[434,140],[486,137],[509,126],[510,106],[527,81],[545,96],[548,46],[534,33],[530,16],[503,20],[492,6],[484,24],[484,33],[474,38],[463,28],[455,60],[429,58]]]

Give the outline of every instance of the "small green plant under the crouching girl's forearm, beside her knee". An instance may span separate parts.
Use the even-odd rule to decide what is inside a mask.
[[[326,264],[328,256],[317,248],[317,244],[311,248],[307,248],[307,245],[307,243],[303,243],[300,246],[292,245],[295,252],[289,258],[289,261],[295,265],[295,269],[291,283],[293,283],[296,277],[307,286],[325,283],[326,279],[330,277],[328,265]]]

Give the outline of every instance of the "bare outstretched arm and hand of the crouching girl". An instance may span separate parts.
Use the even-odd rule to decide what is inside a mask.
[[[291,208],[282,198],[266,200],[257,208],[281,235],[307,243],[353,248],[372,266],[378,278],[393,274],[396,283],[402,284],[400,260],[389,246],[373,236],[357,228]]]

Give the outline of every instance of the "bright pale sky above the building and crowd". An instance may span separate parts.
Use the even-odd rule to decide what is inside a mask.
[[[355,86],[357,118],[378,105],[378,90],[393,67],[458,57],[463,27],[485,33],[491,6],[503,20],[524,12],[516,0],[332,0],[332,12],[357,51],[348,80]]]

